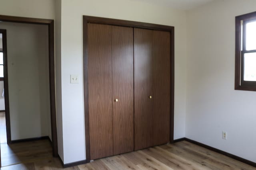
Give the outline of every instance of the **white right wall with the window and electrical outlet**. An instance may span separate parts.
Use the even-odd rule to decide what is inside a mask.
[[[234,90],[235,16],[254,11],[217,0],[187,12],[186,137],[256,162],[256,92]]]

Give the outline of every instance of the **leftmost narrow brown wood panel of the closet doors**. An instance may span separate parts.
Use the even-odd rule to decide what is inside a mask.
[[[112,29],[88,23],[88,95],[91,160],[113,154]]]

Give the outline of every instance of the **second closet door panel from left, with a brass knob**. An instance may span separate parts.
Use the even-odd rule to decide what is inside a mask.
[[[112,26],[114,154],[134,150],[133,29]],[[115,101],[118,99],[118,102]]]

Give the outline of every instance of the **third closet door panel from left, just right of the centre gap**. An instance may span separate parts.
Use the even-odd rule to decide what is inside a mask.
[[[134,28],[134,149],[153,146],[152,30]],[[153,96],[152,99],[149,96]]]

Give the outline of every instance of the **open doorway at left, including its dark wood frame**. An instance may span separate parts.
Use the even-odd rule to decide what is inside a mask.
[[[2,35],[2,39],[0,40],[2,40],[1,52],[3,56],[2,67],[4,70],[4,76],[2,78],[4,93],[0,94],[0,104],[1,99],[5,100],[5,108],[2,110],[4,111],[4,115],[2,117],[0,109],[0,118],[3,120],[2,123],[0,119],[2,128],[0,129],[0,141],[2,141],[2,143],[0,142],[1,164],[2,166],[8,166],[29,161],[30,158],[40,158],[39,155],[42,152],[44,152],[44,155],[42,154],[43,156],[58,156],[54,89],[53,20],[0,16],[0,21],[2,21],[0,22],[0,26],[2,26],[0,27],[0,33]],[[16,28],[13,31],[3,23],[6,23],[6,25],[9,23],[14,28],[18,27],[17,24],[23,24],[24,27],[34,25],[37,28],[37,32],[32,31],[32,37],[25,35],[22,38],[20,36],[22,34],[20,28]],[[8,34],[6,34],[4,27],[7,28],[7,32],[9,29],[9,33],[16,34],[12,35],[12,38],[21,37],[20,39],[14,40],[19,43],[12,47],[6,43]],[[26,43],[29,40],[32,41]],[[35,45],[33,41],[36,40],[40,43]],[[7,46],[8,48],[10,47],[9,51],[7,51]],[[31,50],[28,52],[29,49],[39,52],[30,54]],[[13,60],[14,55],[11,54],[14,51],[16,53],[15,61]],[[8,72],[10,73],[9,81]],[[3,97],[1,98],[1,96]],[[4,125],[5,116],[6,125]],[[4,130],[4,128],[6,129]],[[6,132],[5,134],[4,131]],[[21,152],[26,152],[26,154],[21,155]]]

